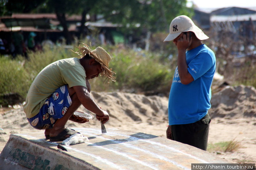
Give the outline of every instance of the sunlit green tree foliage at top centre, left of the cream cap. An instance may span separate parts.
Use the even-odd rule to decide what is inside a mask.
[[[151,32],[168,29],[177,15],[190,15],[186,0],[101,0],[98,13],[123,28],[147,29]]]

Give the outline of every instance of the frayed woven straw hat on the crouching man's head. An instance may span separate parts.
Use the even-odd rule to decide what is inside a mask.
[[[111,60],[111,56],[106,52],[102,47],[97,47],[95,50],[91,51],[90,47],[84,43],[81,43],[82,46],[79,45],[78,51],[73,51],[78,54],[81,58],[83,58],[86,54],[89,54],[96,62],[101,64],[102,72],[101,76],[106,76],[108,79],[108,83],[110,80],[116,82],[115,77],[113,76],[116,74],[112,71],[112,68],[109,68],[109,62]]]

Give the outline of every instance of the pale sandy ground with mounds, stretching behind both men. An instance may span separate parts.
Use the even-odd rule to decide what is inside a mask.
[[[168,125],[168,99],[160,96],[144,96],[121,92],[91,92],[95,101],[110,114],[105,124],[108,128],[130,130],[166,137]],[[256,163],[256,90],[253,87],[224,87],[212,95],[212,117],[208,144],[237,141],[240,148],[232,152],[212,150],[211,153],[233,163]],[[78,110],[85,111],[83,107]],[[89,112],[90,113],[90,112]],[[100,123],[94,118],[79,124],[69,121],[67,127],[94,127]],[[10,134],[38,132],[27,122],[21,105],[0,108],[0,151]],[[41,130],[42,134],[44,131]]]

